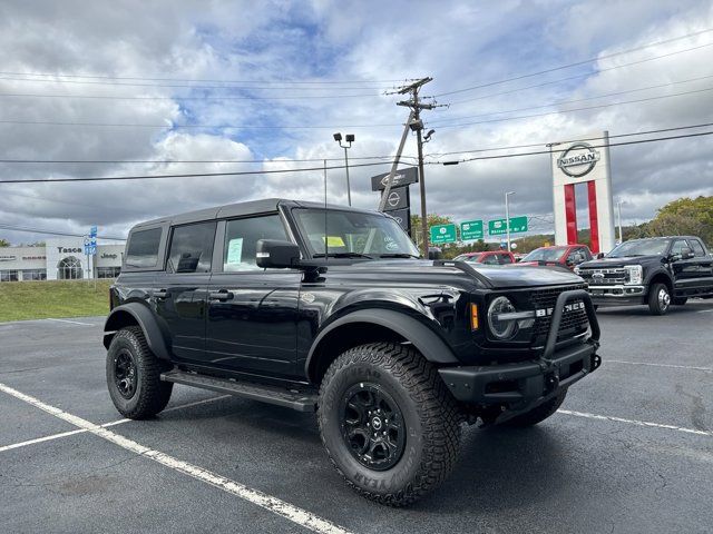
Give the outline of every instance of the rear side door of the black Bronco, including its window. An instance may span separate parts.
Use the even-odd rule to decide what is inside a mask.
[[[215,228],[215,220],[172,228],[165,270],[154,281],[152,300],[177,360],[205,358],[206,291]]]

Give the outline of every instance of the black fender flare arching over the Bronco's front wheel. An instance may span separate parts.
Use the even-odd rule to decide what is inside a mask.
[[[349,315],[345,315],[344,317],[330,323],[318,334],[318,336],[314,338],[314,342],[312,342],[312,347],[310,347],[307,359],[304,363],[304,370],[307,377],[312,376],[314,355],[315,353],[318,353],[320,345],[324,340],[324,338],[338,328],[354,323],[371,323],[373,325],[389,328],[390,330],[399,334],[404,339],[411,342],[411,344],[429,362],[434,362],[437,364],[460,363],[453,355],[453,352],[448,347],[446,342],[443,342],[438,336],[438,334],[436,334],[420,320],[406,315],[402,312],[371,308],[352,312]]]

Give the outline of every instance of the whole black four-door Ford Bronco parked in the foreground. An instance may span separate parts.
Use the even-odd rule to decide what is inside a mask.
[[[185,384],[316,412],[362,495],[413,502],[453,467],[465,422],[527,426],[595,370],[582,278],[420,259],[375,211],[260,200],[130,231],[104,345],[117,409]]]

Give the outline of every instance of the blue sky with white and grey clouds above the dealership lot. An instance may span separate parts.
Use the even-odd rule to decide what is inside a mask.
[[[322,158],[339,166],[335,131],[356,136],[351,162],[382,164],[359,158],[395,151],[406,110],[385,92],[429,76],[422,96],[449,105],[424,112],[436,130],[424,146],[429,212],[501,217],[502,194],[514,190],[512,215],[537,216],[535,228],[551,230],[547,155],[440,162],[603,130],[713,122],[707,0],[6,0],[0,50],[0,159],[72,161],[0,162],[0,180],[291,170]],[[624,221],[646,220],[681,196],[713,195],[712,149],[713,136],[612,147]],[[416,154],[413,137],[406,154]],[[255,162],[227,162],[235,160]],[[375,208],[369,177],[385,170],[352,167],[354,205]],[[0,184],[0,225],[82,234],[96,224],[100,235],[125,236],[160,215],[323,194],[321,171]],[[329,172],[328,195],[345,202],[343,169]]]

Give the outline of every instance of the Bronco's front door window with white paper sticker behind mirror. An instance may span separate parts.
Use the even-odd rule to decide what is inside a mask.
[[[260,269],[255,263],[258,239],[287,239],[279,215],[228,220],[225,227],[223,270],[233,273]]]

